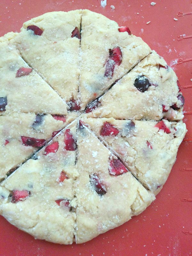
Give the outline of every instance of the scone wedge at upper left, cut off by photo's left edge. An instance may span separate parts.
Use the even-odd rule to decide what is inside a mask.
[[[20,57],[9,41],[15,34],[8,34],[0,38],[0,115],[13,111],[66,115],[66,102]]]

